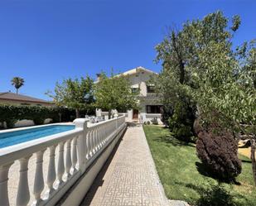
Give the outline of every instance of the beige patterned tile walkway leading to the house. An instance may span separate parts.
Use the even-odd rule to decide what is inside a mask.
[[[141,126],[128,127],[81,205],[168,205]]]

